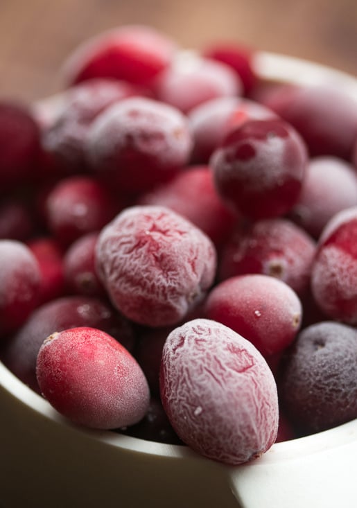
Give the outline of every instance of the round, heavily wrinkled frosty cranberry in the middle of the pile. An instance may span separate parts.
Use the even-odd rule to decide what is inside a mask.
[[[113,304],[148,326],[176,324],[214,281],[216,249],[165,207],[122,211],[98,238],[97,270]]]

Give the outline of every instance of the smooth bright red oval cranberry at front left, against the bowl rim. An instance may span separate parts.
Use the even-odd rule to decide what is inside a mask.
[[[150,392],[143,371],[101,330],[80,327],[50,335],[38,353],[36,374],[49,403],[83,426],[130,426],[148,410]]]

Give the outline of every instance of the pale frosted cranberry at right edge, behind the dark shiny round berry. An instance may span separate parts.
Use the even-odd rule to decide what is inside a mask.
[[[357,175],[336,157],[315,157],[306,170],[299,200],[289,212],[297,224],[318,238],[339,211],[357,206]]]

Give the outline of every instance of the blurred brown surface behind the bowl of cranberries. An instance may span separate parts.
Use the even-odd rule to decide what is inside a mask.
[[[78,43],[132,23],[185,47],[236,40],[357,75],[356,0],[0,0],[0,96],[51,94]]]

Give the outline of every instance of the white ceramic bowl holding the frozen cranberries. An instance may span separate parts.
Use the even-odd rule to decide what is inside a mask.
[[[269,80],[328,82],[357,99],[357,80],[259,53]],[[229,467],[184,446],[64,420],[0,362],[1,508],[356,508],[357,420],[277,443]]]

